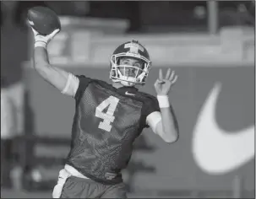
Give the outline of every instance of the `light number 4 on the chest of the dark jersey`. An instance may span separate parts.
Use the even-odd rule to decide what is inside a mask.
[[[113,115],[115,110],[117,109],[118,102],[119,99],[114,96],[110,96],[96,107],[95,116],[103,119],[98,127],[105,130],[106,132],[110,132],[112,129],[111,123],[115,120],[115,116]],[[104,113],[103,110],[105,110],[106,107],[108,108],[106,110],[106,113]]]

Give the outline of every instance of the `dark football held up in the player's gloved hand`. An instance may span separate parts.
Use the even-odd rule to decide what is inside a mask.
[[[28,11],[28,23],[41,35],[49,35],[53,30],[61,30],[57,13],[47,7],[33,7]]]

